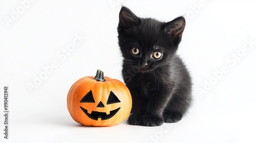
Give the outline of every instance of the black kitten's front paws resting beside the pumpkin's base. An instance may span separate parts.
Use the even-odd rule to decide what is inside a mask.
[[[148,115],[133,115],[131,114],[128,123],[131,125],[140,125],[140,126],[160,126],[163,124],[163,119],[156,116]]]

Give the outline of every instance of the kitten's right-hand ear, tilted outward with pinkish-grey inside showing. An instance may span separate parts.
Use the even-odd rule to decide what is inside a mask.
[[[181,40],[185,24],[186,22],[184,17],[177,17],[174,20],[165,23],[164,32],[173,40]]]

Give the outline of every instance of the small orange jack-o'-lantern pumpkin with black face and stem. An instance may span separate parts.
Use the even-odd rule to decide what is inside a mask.
[[[113,126],[123,122],[132,109],[129,89],[119,80],[95,77],[76,81],[68,93],[68,110],[72,118],[86,126]]]

